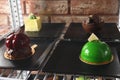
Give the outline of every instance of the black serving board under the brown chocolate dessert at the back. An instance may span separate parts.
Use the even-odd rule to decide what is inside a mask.
[[[120,32],[115,23],[105,23],[102,29],[95,33],[100,40],[118,41],[120,40]],[[87,41],[90,33],[84,31],[81,23],[71,23],[64,38],[78,41]]]

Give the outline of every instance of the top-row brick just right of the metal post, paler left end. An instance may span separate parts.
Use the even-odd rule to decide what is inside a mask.
[[[67,0],[26,1],[27,13],[67,14]]]

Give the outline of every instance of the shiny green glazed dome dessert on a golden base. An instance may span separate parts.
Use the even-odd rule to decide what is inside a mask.
[[[113,60],[109,45],[100,40],[87,42],[81,50],[80,60],[92,65],[108,64]]]

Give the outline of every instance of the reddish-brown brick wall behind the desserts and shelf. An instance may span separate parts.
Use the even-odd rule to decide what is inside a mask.
[[[9,26],[8,0],[0,0],[0,26]],[[90,14],[99,14],[105,22],[118,21],[118,0],[21,0],[24,17],[41,16],[43,22],[82,22]]]

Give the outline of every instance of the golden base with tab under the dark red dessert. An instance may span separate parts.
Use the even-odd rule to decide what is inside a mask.
[[[31,51],[26,56],[17,56],[17,57],[14,57],[13,55],[9,54],[8,51],[6,50],[5,53],[4,53],[4,57],[6,59],[9,59],[9,60],[23,60],[23,59],[27,59],[27,58],[29,58],[29,57],[31,57],[32,55],[35,54],[35,47],[37,47],[37,45],[31,46]],[[20,53],[20,54],[22,54],[22,53]]]

